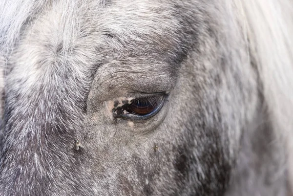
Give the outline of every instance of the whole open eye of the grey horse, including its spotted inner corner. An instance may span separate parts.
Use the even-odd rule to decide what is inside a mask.
[[[156,94],[125,101],[124,105],[113,109],[116,118],[146,120],[156,115],[163,107],[166,94]]]

